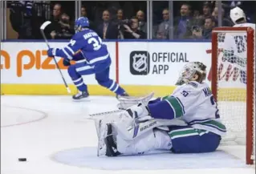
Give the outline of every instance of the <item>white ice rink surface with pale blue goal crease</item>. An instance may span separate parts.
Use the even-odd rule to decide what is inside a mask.
[[[221,146],[207,154],[171,153],[97,157],[89,114],[116,110],[115,97],[1,96],[2,174],[253,174],[245,147]],[[18,162],[26,158],[26,162]]]

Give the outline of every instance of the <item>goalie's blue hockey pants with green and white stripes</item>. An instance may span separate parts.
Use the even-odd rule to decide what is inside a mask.
[[[170,127],[174,153],[214,152],[221,141],[221,136],[190,126]]]

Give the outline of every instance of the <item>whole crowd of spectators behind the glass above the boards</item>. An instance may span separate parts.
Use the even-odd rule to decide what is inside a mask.
[[[18,38],[39,39],[39,26],[51,20],[47,28],[47,38],[67,39],[75,34],[75,2],[9,2],[10,23],[18,33]],[[211,31],[218,24],[221,11],[221,26],[233,26],[229,18],[230,9],[240,6],[246,12],[247,20],[255,22],[256,2],[222,2],[218,10],[217,2],[153,2],[152,38],[169,39],[210,39]],[[253,7],[253,8],[252,8]],[[87,17],[90,28],[101,38],[125,39],[148,38],[147,2],[82,2],[80,16]],[[172,21],[170,22],[170,14]]]

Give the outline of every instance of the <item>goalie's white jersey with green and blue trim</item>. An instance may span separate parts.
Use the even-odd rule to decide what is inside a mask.
[[[183,119],[193,128],[224,136],[226,127],[221,123],[217,103],[207,83],[195,81],[177,87],[173,94],[162,99],[168,100],[175,112],[174,118]],[[182,112],[181,114],[178,114]]]

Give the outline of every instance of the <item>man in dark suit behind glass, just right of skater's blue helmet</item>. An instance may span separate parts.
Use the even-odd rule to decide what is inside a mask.
[[[110,21],[110,14],[108,10],[104,10],[102,14],[103,22],[100,22],[96,28],[96,32],[100,38],[116,39],[118,37],[117,26],[114,22]]]

